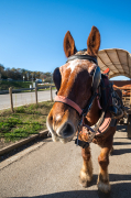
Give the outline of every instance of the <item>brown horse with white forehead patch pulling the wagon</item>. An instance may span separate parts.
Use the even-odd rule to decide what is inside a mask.
[[[87,50],[77,52],[75,42],[69,31],[64,37],[64,52],[69,59],[61,66],[56,75],[57,97],[48,117],[47,128],[52,133],[53,141],[63,143],[69,142],[76,134],[81,109],[88,106],[92,97],[92,80],[97,65],[97,54],[100,46],[100,33],[96,26],[92,26],[87,40]],[[76,58],[74,58],[74,55]],[[87,58],[86,58],[87,57]],[[59,77],[61,75],[61,77]],[[94,82],[95,84],[95,82]],[[99,84],[99,80],[97,81]],[[98,88],[98,85],[96,86]],[[84,117],[85,124],[89,127],[96,124],[100,118],[101,109],[97,97],[92,97],[90,108]],[[109,154],[112,148],[116,127],[109,127],[102,135],[95,135],[94,143],[101,147],[98,162],[100,166],[97,186],[98,189],[108,193],[110,190],[108,165]],[[78,139],[81,142],[88,142],[89,134],[80,132]],[[92,163],[90,147],[83,146],[83,167],[80,169],[80,183],[87,187],[92,179]]]

